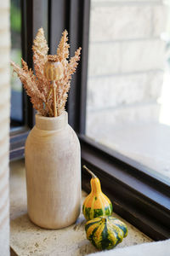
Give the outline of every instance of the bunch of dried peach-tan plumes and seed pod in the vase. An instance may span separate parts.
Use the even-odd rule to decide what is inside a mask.
[[[48,44],[40,28],[32,46],[35,74],[21,59],[22,67],[11,61],[14,72],[31,97],[33,108],[42,116],[59,116],[65,110],[65,102],[71,86],[71,75],[76,72],[81,48],[69,58],[68,32],[65,30],[56,55],[48,55]]]

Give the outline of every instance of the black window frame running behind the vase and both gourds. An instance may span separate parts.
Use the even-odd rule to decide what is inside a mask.
[[[26,61],[32,67],[31,44],[37,32],[34,4],[41,0],[24,1]],[[71,55],[81,46],[82,57],[77,73],[71,81],[67,103],[69,124],[77,132],[81,143],[82,165],[86,164],[99,177],[102,189],[111,198],[114,212],[150,236],[153,240],[170,237],[170,185],[156,177],[145,166],[85,136],[88,32],[90,0],[48,0],[48,44],[54,54],[56,38],[66,28],[69,32]],[[27,17],[27,18],[26,18]],[[31,20],[31,23],[30,23]],[[27,26],[30,24],[29,26]],[[57,24],[57,26],[56,26]],[[26,29],[27,28],[27,29]],[[28,35],[31,35],[29,38]],[[27,40],[26,40],[27,38]],[[28,40],[29,38],[29,40]],[[11,159],[24,156],[24,144],[33,120],[33,110],[27,100],[27,125],[22,134],[11,137]],[[82,189],[89,192],[90,177],[82,170]]]

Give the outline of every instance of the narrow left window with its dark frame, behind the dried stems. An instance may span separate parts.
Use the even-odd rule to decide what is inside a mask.
[[[34,11],[33,11],[34,10]],[[11,0],[11,59],[20,64],[20,56],[32,68],[32,40],[43,26],[48,38],[48,1]],[[34,125],[34,110],[19,79],[11,76],[10,159],[24,156],[26,137]]]

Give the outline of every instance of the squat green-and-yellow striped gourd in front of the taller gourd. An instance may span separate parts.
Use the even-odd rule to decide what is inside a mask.
[[[127,225],[118,218],[102,216],[89,220],[85,225],[87,238],[99,250],[109,250],[127,236]]]

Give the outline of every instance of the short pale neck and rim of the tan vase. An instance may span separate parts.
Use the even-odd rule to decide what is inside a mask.
[[[45,131],[57,131],[64,129],[68,124],[68,113],[63,112],[57,117],[44,117],[40,113],[36,114],[36,127]]]

